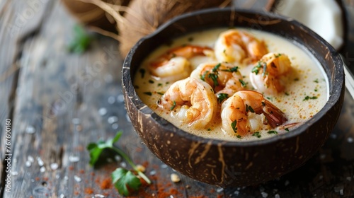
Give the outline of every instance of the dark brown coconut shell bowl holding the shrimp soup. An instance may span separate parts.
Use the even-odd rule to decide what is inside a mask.
[[[142,103],[133,76],[143,59],[174,37],[208,28],[253,28],[280,35],[307,48],[329,79],[329,100],[296,129],[257,141],[205,139],[178,129]],[[200,182],[220,187],[257,185],[289,173],[321,148],[343,105],[343,62],[319,35],[289,18],[270,13],[212,8],[173,18],[132,47],[122,68],[125,105],[135,131],[157,158]]]

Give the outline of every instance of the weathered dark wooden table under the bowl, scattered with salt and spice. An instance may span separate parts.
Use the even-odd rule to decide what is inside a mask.
[[[181,182],[173,183],[174,171],[152,155],[127,120],[119,43],[93,35],[87,52],[69,53],[76,23],[59,1],[0,1],[1,197],[120,197],[110,173],[125,163],[111,156],[92,168],[86,151],[89,142],[118,130],[123,135],[116,146],[145,165],[152,180],[134,197],[354,197],[354,101],[348,92],[329,140],[292,173],[229,189],[179,173]]]

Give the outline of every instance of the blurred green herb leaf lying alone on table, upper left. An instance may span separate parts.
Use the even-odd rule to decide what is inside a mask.
[[[69,43],[68,50],[72,53],[82,54],[87,49],[91,43],[92,37],[86,33],[84,28],[81,25],[74,26],[74,38]]]

